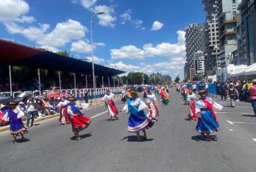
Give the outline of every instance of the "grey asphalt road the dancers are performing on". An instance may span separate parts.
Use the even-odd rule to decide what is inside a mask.
[[[80,141],[57,118],[29,128],[27,142],[12,144],[10,134],[1,133],[0,171],[256,171],[256,118],[250,104],[232,108],[217,98],[224,106],[217,114],[221,131],[213,133],[219,141],[205,142],[194,130],[196,121],[185,120],[188,105],[174,90],[170,98],[169,106],[159,103],[161,117],[144,142],[127,132],[126,114],[115,121],[107,114],[95,116],[104,106],[86,112],[95,118]]]

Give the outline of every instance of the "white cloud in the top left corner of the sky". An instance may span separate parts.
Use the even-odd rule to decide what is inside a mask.
[[[12,21],[29,11],[29,6],[23,0],[1,0],[0,21]]]

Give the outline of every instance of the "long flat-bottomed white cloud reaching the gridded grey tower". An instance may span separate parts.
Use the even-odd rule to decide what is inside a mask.
[[[153,47],[152,44],[145,44],[142,49],[134,46],[127,45],[120,49],[110,50],[112,59],[122,58],[140,58],[154,57],[154,56],[165,56],[165,57],[176,57],[185,56],[185,34],[183,31],[178,31],[178,43],[160,43]]]

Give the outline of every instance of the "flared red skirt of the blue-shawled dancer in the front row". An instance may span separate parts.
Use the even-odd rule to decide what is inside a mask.
[[[73,118],[71,118],[72,129],[75,132],[86,129],[89,127],[90,123],[91,118],[88,118],[87,116],[74,115]]]

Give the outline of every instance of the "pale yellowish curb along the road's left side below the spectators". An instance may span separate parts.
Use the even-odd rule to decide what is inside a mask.
[[[116,98],[114,100],[120,100],[120,99],[121,98]],[[92,109],[94,107],[99,107],[100,105],[104,105],[104,103],[98,103],[96,105],[89,105],[89,108]],[[39,118],[36,118],[34,120],[34,124],[36,124],[38,122],[42,122],[44,120],[49,120],[49,119],[52,119],[52,118],[57,118],[59,116],[60,116],[60,114],[58,113],[58,114],[53,114],[53,115],[50,115],[50,116],[45,116],[45,117],[42,117],[42,118],[39,117]],[[26,122],[24,122],[24,125],[26,126]],[[0,133],[3,133],[5,131],[9,131],[9,129],[10,129],[9,125],[6,125],[4,127],[0,127]]]

